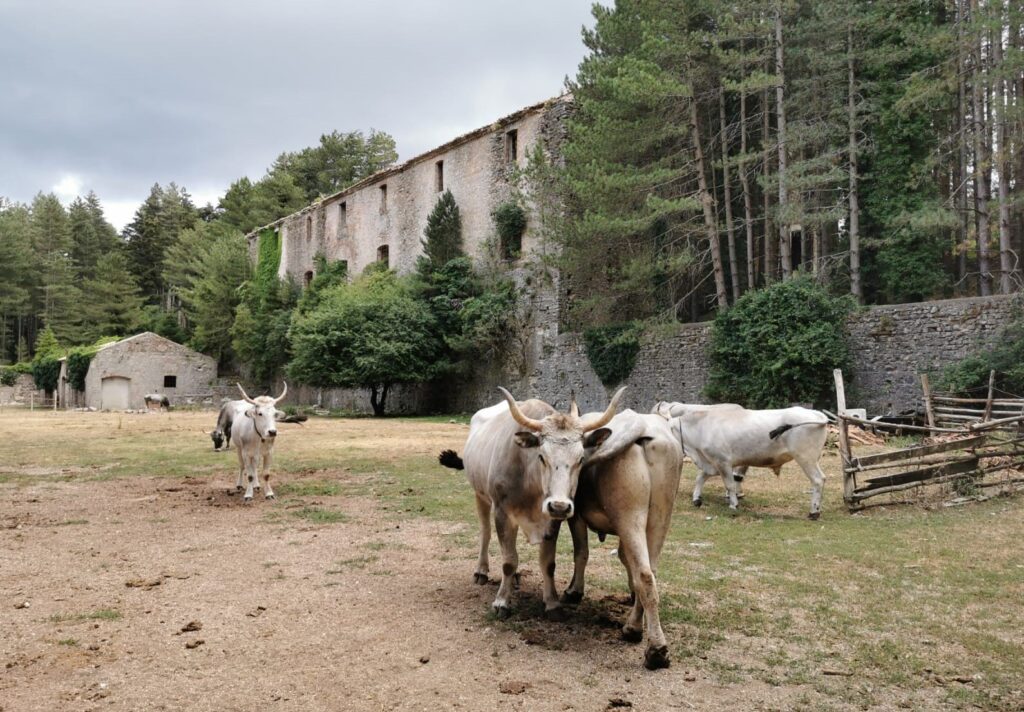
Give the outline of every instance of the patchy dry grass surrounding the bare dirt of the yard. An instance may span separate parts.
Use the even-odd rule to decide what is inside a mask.
[[[213,419],[5,411],[0,502],[25,488],[157,475],[227,488],[236,456],[211,452],[203,429]],[[266,522],[343,526],[339,503],[353,497],[389,520],[460,522],[444,535],[443,555],[465,560],[469,576],[472,496],[461,475],[435,460],[441,448],[461,449],[464,419],[325,418],[283,427],[274,465],[280,500],[259,503]],[[709,483],[702,508],[690,505],[694,472],[687,465],[658,571],[677,664],[727,687],[757,681],[798,689],[791,702],[805,709],[1024,709],[1024,500],[889,504],[851,515],[835,450],[822,464],[829,479],[820,521],[806,518],[809,484],[793,465],[780,478],[752,471],[735,515],[717,481]],[[563,577],[567,539],[559,543]],[[583,616],[599,618],[604,598],[626,592],[614,545],[614,538],[592,538]],[[379,567],[382,546],[325,562],[328,574]],[[524,566],[536,567],[536,550],[521,547]],[[550,625],[539,620],[536,592],[520,598],[517,616],[490,624],[527,632]]]

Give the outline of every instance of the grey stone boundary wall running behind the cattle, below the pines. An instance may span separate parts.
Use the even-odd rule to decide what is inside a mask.
[[[849,407],[870,415],[900,413],[922,407],[921,378],[940,372],[994,343],[1011,319],[1012,297],[973,297],[916,304],[873,306],[851,317],[849,343],[853,371],[846,375]],[[625,404],[647,411],[657,401],[703,403],[708,380],[711,324],[683,324],[668,333],[648,335],[641,346]],[[604,407],[605,388],[587,360],[583,337],[538,327],[530,344],[525,378],[505,375],[519,397],[536,396],[564,407],[574,390],[581,408]],[[467,384],[454,405],[472,411],[498,401],[494,369]],[[511,387],[511,386],[510,386]],[[833,404],[816,404],[820,408]]]

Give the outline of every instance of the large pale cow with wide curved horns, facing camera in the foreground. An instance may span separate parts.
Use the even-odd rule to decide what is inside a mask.
[[[511,613],[512,588],[519,556],[516,538],[522,528],[530,544],[541,545],[544,610],[551,619],[564,618],[555,591],[555,536],[552,522],[572,516],[580,470],[586,449],[596,448],[610,431],[604,427],[615,414],[621,388],[604,413],[583,418],[579,412],[559,413],[543,401],[516,403],[501,388],[505,403],[477,411],[470,421],[464,455],[445,450],[440,463],[465,469],[476,493],[480,519],[480,554],[474,581],[487,582],[490,512],[502,549],[502,582],[492,608]]]

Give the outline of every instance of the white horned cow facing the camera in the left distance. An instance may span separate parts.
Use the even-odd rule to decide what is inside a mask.
[[[288,383],[285,383],[285,390],[278,397],[259,395],[255,399],[246,394],[241,383],[237,385],[248,405],[240,417],[234,418],[231,423],[231,437],[234,439],[234,450],[239,454],[239,479],[234,489],[242,492],[242,475],[245,473],[248,485],[243,500],[247,504],[252,502],[253,490],[260,489],[259,474],[262,470],[263,480],[266,483],[264,496],[273,499],[273,490],[270,488],[270,461],[273,457],[273,442],[278,436],[276,420],[285,416],[278,410],[278,404],[288,393]]]

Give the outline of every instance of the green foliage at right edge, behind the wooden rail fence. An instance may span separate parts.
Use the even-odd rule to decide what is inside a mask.
[[[1018,303],[990,347],[947,367],[936,384],[938,389],[977,395],[988,388],[989,373],[995,371],[995,387],[1008,393],[1024,393],[1024,308]]]

